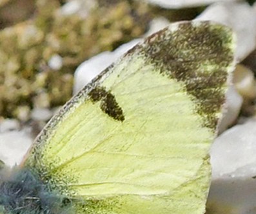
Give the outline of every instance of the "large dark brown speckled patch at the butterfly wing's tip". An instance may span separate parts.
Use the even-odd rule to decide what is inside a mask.
[[[184,82],[196,103],[195,111],[204,119],[203,126],[215,130],[216,113],[224,103],[222,86],[233,61],[231,45],[232,32],[221,24],[184,22],[175,31],[166,28],[153,34],[140,48],[160,73]],[[213,67],[202,69],[203,64]]]

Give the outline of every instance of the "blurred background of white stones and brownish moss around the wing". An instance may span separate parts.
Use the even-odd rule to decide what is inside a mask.
[[[208,213],[256,213],[254,2],[0,0],[0,159],[19,164],[59,107],[144,37],[213,20],[237,33],[237,68],[211,149]]]

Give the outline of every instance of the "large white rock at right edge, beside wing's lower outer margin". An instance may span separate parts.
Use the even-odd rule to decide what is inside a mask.
[[[226,130],[210,149],[213,179],[256,175],[255,154],[256,120]]]

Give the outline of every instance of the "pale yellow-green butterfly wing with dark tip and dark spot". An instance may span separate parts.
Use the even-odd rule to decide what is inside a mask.
[[[77,213],[204,213],[233,46],[211,22],[155,33],[64,106],[25,165]]]

